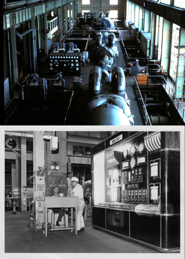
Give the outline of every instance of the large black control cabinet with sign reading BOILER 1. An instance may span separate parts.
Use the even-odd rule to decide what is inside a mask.
[[[117,132],[91,154],[93,226],[180,249],[180,132]]]

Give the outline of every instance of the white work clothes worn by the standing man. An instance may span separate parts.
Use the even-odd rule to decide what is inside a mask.
[[[77,184],[73,189],[73,196],[78,197],[77,199],[77,230],[84,228],[84,217],[82,213],[84,211],[85,202],[84,202],[84,192],[82,185]]]

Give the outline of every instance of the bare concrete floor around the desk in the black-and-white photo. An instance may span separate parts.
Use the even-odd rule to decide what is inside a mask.
[[[87,253],[87,258],[92,253],[96,257],[100,256],[99,253],[105,253],[106,257],[109,254],[116,253],[117,258],[125,256],[122,253],[128,253],[127,258],[131,256],[131,253],[134,254],[134,257],[139,256],[139,254],[143,254],[143,256],[144,254],[152,253],[158,253],[158,256],[161,254],[157,250],[93,228],[91,217],[87,219],[85,221],[85,232],[75,235],[75,231],[71,233],[70,230],[50,231],[48,232],[48,237],[45,237],[42,230],[37,230],[36,232],[35,228],[27,227],[30,223],[29,212],[16,212],[16,214],[12,214],[11,211],[7,211],[5,212],[5,253],[0,258],[15,258],[17,256],[17,254],[11,255],[10,253],[29,253],[25,254],[24,258],[41,258],[40,253],[60,253],[60,255],[65,253],[65,256],[62,255],[62,258],[67,258],[67,253],[69,253],[69,256],[71,253]],[[21,254],[18,256],[22,258]],[[52,258],[52,255],[49,254],[48,256]],[[163,254],[163,256],[166,256],[166,254]],[[46,254],[44,258],[48,258]],[[54,256],[54,258],[59,257]]]

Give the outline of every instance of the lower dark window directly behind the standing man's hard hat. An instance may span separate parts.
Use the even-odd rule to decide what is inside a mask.
[[[85,177],[85,182],[91,180],[91,167],[87,166],[73,166],[72,167],[73,176],[78,177],[79,181],[82,180],[82,177]]]

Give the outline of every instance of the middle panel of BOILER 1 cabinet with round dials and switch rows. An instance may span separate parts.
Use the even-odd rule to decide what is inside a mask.
[[[122,203],[147,203],[147,149],[142,133],[121,144]]]

